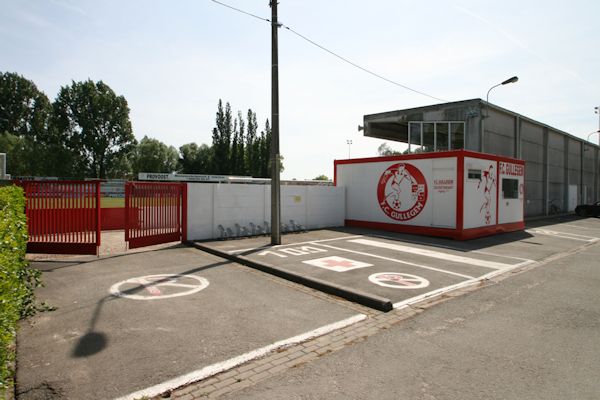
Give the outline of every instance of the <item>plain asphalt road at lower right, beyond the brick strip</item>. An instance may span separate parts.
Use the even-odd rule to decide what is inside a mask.
[[[598,399],[599,260],[589,244],[224,398]]]

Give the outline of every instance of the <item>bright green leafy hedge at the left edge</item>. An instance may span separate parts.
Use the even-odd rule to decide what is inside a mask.
[[[17,186],[0,187],[0,394],[12,385],[17,321],[35,312],[33,291],[40,272],[27,268],[25,195]]]

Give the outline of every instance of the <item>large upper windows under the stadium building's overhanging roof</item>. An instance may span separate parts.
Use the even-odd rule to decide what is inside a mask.
[[[409,122],[408,151],[420,153],[464,149],[464,122]]]

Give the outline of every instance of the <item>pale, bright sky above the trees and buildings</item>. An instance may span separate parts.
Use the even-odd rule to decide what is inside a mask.
[[[270,18],[268,0],[223,0]],[[279,21],[378,75],[279,31],[282,179],[333,175],[371,157],[366,114],[484,98],[587,139],[599,129],[597,0],[280,0]],[[130,107],[136,138],[211,142],[219,99],[271,115],[271,26],[211,0],[0,0],[0,71],[53,100],[102,80]],[[598,136],[592,141],[598,143]],[[352,145],[348,146],[347,141]],[[402,144],[387,142],[393,149]]]

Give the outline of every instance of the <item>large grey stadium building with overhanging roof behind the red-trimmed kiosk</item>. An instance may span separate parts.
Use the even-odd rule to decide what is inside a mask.
[[[525,217],[600,198],[597,145],[481,99],[365,115],[363,129],[411,153],[465,149],[524,160]]]

